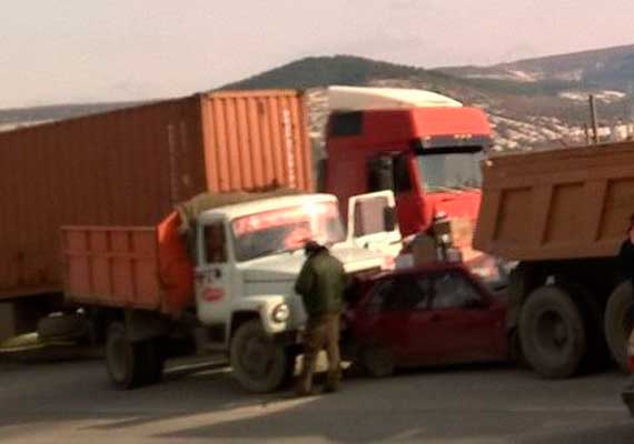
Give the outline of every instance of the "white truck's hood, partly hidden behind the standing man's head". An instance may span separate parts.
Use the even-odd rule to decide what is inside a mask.
[[[347,273],[378,271],[385,264],[385,255],[348,244],[335,245],[330,253],[341,261]],[[295,251],[248,261],[240,269],[250,283],[295,281],[305,261],[304,252]]]

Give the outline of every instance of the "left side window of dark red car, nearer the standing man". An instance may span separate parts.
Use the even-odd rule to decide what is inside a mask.
[[[428,310],[430,295],[432,282],[427,278],[386,280],[377,285],[370,306],[380,312]]]

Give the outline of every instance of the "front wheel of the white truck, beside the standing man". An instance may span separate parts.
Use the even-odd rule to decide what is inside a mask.
[[[249,392],[273,392],[293,371],[286,349],[266,334],[259,320],[241,324],[230,349],[234,376]]]

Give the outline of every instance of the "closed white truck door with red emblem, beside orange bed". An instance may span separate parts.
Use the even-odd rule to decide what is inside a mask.
[[[224,221],[198,228],[196,305],[198,319],[206,324],[225,322],[230,311],[231,271],[227,225]]]

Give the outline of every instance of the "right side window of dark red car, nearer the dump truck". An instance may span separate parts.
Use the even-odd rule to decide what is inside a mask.
[[[482,306],[482,295],[462,273],[440,273],[434,279],[433,310]]]

